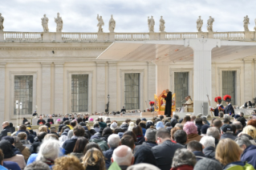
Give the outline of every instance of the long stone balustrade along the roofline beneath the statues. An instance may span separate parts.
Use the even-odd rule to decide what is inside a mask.
[[[219,38],[221,40],[255,41],[254,31],[237,32],[149,32],[149,33],[61,33],[61,32],[0,32],[0,42],[114,42],[176,40],[184,38]]]

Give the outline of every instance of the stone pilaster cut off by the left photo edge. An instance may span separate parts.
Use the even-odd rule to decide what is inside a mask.
[[[6,63],[0,63],[0,122],[5,119]],[[1,128],[2,129],[2,128]]]

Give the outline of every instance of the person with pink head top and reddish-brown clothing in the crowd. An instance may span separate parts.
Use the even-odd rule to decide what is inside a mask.
[[[198,135],[197,126],[193,122],[185,123],[183,130],[186,132],[188,136],[187,144],[192,140],[197,140],[199,142],[202,138],[202,136]]]

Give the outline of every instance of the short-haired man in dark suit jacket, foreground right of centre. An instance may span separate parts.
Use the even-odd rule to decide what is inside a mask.
[[[159,129],[156,132],[156,143],[158,145],[152,148],[157,166],[162,170],[169,170],[173,163],[174,152],[177,148],[184,148],[181,144],[173,143],[170,137],[167,129]]]

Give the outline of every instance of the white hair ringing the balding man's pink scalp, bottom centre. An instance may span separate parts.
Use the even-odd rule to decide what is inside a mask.
[[[122,147],[124,147],[124,145],[122,145]],[[132,149],[126,146],[125,148],[127,148],[127,152],[124,157],[116,156],[116,152],[120,152],[120,149],[122,149],[121,147],[116,148],[112,154],[113,160],[118,165],[130,165],[132,163]]]

